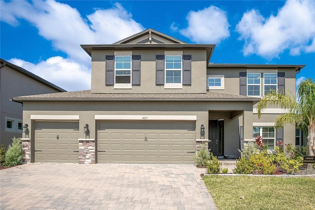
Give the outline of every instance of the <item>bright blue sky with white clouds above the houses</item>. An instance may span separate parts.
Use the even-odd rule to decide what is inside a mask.
[[[64,88],[87,90],[80,44],[111,44],[145,29],[216,44],[210,62],[306,65],[315,80],[315,1],[0,1],[0,57]]]

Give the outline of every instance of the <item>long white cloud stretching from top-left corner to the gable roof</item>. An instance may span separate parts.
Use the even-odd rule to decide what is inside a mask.
[[[55,0],[1,1],[1,13],[1,21],[13,26],[19,18],[29,21],[56,49],[85,64],[91,58],[80,44],[111,44],[144,30],[119,3],[113,8],[96,9],[87,16],[88,20],[77,9]]]

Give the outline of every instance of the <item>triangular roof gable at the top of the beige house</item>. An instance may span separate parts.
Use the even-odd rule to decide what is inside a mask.
[[[138,34],[117,41],[114,44],[186,44],[186,42],[162,34],[153,29],[147,29]]]

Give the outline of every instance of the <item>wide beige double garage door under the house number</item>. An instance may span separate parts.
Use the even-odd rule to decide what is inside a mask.
[[[98,122],[97,163],[194,164],[195,122]]]

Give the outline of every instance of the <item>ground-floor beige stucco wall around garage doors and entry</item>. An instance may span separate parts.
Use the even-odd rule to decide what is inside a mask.
[[[185,115],[196,116],[195,138],[200,139],[200,126],[205,126],[205,139],[208,139],[209,119],[224,118],[224,147],[229,155],[238,155],[239,123],[238,118],[230,119],[231,110],[244,110],[245,138],[252,135],[251,102],[25,102],[24,119],[32,130],[34,120],[31,115],[78,115],[79,138],[84,139],[83,127],[89,124],[91,139],[97,140],[97,120],[95,115]],[[91,110],[93,109],[93,110]],[[210,111],[210,113],[209,113]],[[215,112],[216,114],[213,114]],[[30,137],[33,138],[32,136]]]

